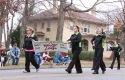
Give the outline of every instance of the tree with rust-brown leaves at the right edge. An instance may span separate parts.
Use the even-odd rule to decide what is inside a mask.
[[[111,11],[105,12],[104,15],[117,29],[116,38],[122,46],[123,52],[121,57],[123,57],[125,55],[125,0],[119,0],[119,3],[121,3],[122,7],[116,7]]]

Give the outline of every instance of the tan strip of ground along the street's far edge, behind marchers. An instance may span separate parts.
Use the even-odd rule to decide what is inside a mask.
[[[104,60],[106,67],[108,68],[111,64],[111,60]],[[83,61],[81,60],[81,65],[83,68],[91,68],[92,67],[93,62],[92,61]],[[67,68],[68,65],[57,65],[57,66],[53,66],[51,67],[51,65],[48,64],[44,64],[41,65],[40,68],[41,69],[45,69],[45,68]],[[117,67],[117,61],[114,64],[114,68]],[[34,67],[31,65],[30,68],[34,69]],[[125,64],[122,61],[121,63],[121,68],[125,68]],[[13,69],[24,69],[24,64],[23,65],[7,65],[5,67],[0,67],[0,70],[13,70]]]

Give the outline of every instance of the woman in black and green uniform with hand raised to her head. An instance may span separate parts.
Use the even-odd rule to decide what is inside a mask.
[[[105,63],[103,62],[103,51],[104,51],[104,39],[106,35],[103,32],[102,28],[98,29],[98,35],[94,36],[93,39],[91,40],[91,43],[93,45],[93,42],[95,43],[95,53],[94,53],[94,72],[93,74],[99,74],[99,66],[102,69],[102,74],[105,73],[106,71],[106,66]]]

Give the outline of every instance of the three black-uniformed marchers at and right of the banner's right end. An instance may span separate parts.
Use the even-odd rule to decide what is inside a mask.
[[[94,58],[93,58],[93,68],[94,72],[92,74],[99,74],[99,67],[101,67],[102,74],[106,71],[106,66],[103,61],[103,51],[104,51],[104,40],[106,38],[105,32],[103,31],[103,28],[99,28],[97,31],[97,35],[93,37],[91,40],[91,43],[93,45],[94,49]],[[82,44],[81,44],[82,36],[79,32],[79,27],[74,27],[74,34],[71,35],[70,39],[67,40],[68,43],[72,44],[72,60],[68,66],[67,69],[65,69],[66,72],[69,74],[72,72],[72,68],[75,65],[76,73],[82,73],[82,68],[80,64],[79,54],[82,50]],[[115,41],[114,46],[111,47],[111,50],[114,52],[113,56],[113,62],[109,68],[113,69],[113,65],[115,62],[115,59],[117,58],[118,61],[118,67],[117,69],[120,69],[120,51],[122,48],[118,43]]]

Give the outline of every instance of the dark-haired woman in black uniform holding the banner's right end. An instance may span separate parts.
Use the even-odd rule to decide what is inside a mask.
[[[76,68],[76,73],[82,73],[82,68],[81,68],[81,63],[79,59],[79,55],[82,51],[82,43],[81,43],[82,36],[79,32],[79,27],[75,26],[74,27],[74,34],[71,35],[70,39],[67,40],[68,43],[71,43],[72,45],[72,60],[68,66],[67,69],[65,69],[66,72],[69,74],[72,72],[72,68],[75,65]]]

